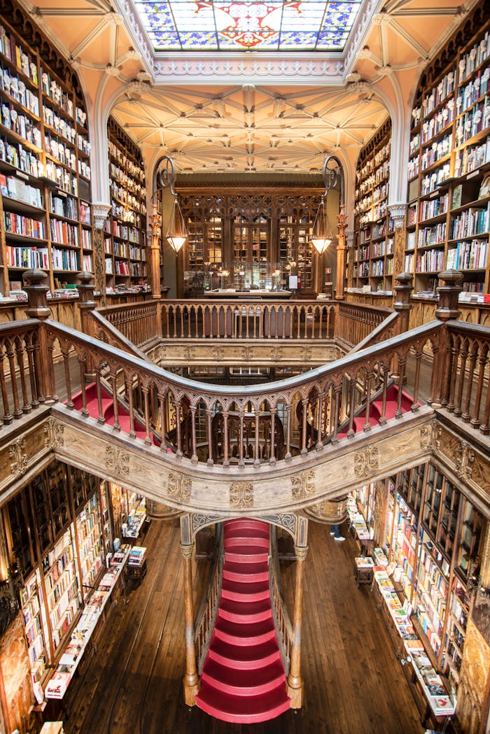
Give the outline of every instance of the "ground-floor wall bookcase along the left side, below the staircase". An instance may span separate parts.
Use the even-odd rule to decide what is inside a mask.
[[[52,462],[7,505],[11,550],[25,579],[21,608],[35,684],[57,664],[104,571],[104,537],[111,537],[105,497],[97,477]]]

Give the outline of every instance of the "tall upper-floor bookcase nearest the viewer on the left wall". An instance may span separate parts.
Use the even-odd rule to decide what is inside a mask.
[[[87,115],[68,64],[48,42],[30,46],[19,17],[0,27],[1,291],[17,293],[37,267],[57,295],[93,272]]]

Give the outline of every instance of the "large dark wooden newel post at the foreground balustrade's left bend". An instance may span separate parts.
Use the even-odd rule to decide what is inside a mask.
[[[24,291],[26,291],[29,307],[26,309],[27,316],[31,319],[39,319],[39,344],[35,352],[36,381],[40,402],[51,405],[57,401],[54,390],[54,371],[51,359],[52,347],[48,346],[48,336],[44,321],[51,316],[51,308],[48,308],[46,294],[49,291],[48,276],[43,270],[33,269],[24,273]]]

